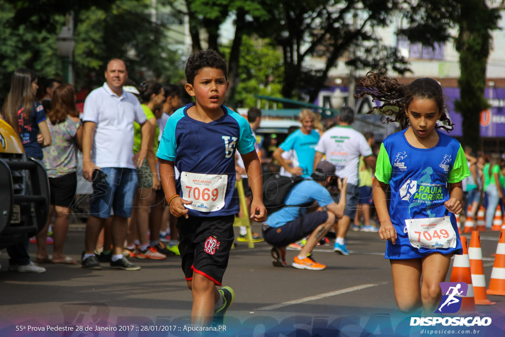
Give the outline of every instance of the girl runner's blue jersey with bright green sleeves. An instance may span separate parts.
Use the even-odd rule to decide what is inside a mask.
[[[375,171],[379,181],[389,184],[389,216],[398,236],[395,245],[388,240],[386,258],[413,259],[434,252],[462,254],[456,217],[444,203],[449,200],[449,184],[470,175],[463,149],[456,139],[438,131],[439,141],[435,147],[414,148],[407,141],[405,131],[396,132],[383,141]],[[374,202],[378,206],[380,201]],[[427,249],[411,245],[406,220],[444,216],[450,217],[456,231],[455,248]],[[435,235],[440,236],[438,232]],[[433,239],[436,246],[435,241]]]

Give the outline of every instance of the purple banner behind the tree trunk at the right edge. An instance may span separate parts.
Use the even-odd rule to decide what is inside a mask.
[[[454,130],[450,132],[453,137],[463,136],[461,114],[455,112],[454,101],[460,98],[459,88],[444,88],[447,110],[453,123]],[[491,107],[481,113],[480,136],[481,137],[505,137],[505,88],[486,88],[484,92]]]

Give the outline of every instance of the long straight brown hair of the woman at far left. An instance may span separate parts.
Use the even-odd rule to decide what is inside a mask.
[[[31,69],[20,68],[14,72],[11,90],[4,102],[4,118],[19,136],[18,111],[23,109],[23,118],[30,120],[30,114],[35,102],[32,83],[37,80],[37,73]]]

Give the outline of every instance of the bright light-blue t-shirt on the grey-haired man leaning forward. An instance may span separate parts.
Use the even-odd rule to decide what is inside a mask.
[[[305,134],[298,129],[287,136],[279,147],[284,151],[294,150],[298,158],[298,166],[304,171],[303,176],[310,177],[314,169],[314,156],[318,141],[319,133],[317,131],[311,130],[310,134]]]

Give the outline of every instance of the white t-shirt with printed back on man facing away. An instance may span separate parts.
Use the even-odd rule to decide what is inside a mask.
[[[349,184],[358,184],[360,155],[372,155],[365,136],[350,126],[335,126],[327,130],[316,146],[316,151],[326,155],[326,160],[335,165],[335,174],[347,177]]]

